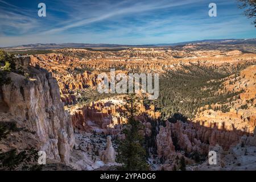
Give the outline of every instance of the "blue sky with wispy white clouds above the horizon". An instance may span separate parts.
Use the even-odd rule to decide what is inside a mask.
[[[42,2],[46,17],[38,16]],[[212,2],[216,17],[208,15]],[[237,0],[0,0],[0,47],[256,38],[251,22]]]

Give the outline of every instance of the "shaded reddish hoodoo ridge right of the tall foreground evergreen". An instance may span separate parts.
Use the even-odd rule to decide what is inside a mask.
[[[167,121],[166,123],[166,127],[160,126],[159,134],[156,137],[158,155],[171,154],[166,151],[174,151],[173,145],[176,150],[199,152],[204,155],[208,154],[209,147],[216,144],[219,144],[224,150],[228,150],[230,146],[238,143],[242,135],[245,134],[241,131],[218,130],[217,127],[205,127],[200,123],[193,122],[169,123]]]

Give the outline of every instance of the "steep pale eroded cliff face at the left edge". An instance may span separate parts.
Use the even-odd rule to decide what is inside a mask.
[[[14,119],[19,126],[34,132],[35,147],[46,151],[48,159],[69,163],[73,128],[60,100],[59,86],[51,73],[28,66],[29,61],[22,61],[29,77],[11,72],[11,84],[1,88],[1,119]],[[26,138],[19,142],[26,145]]]

